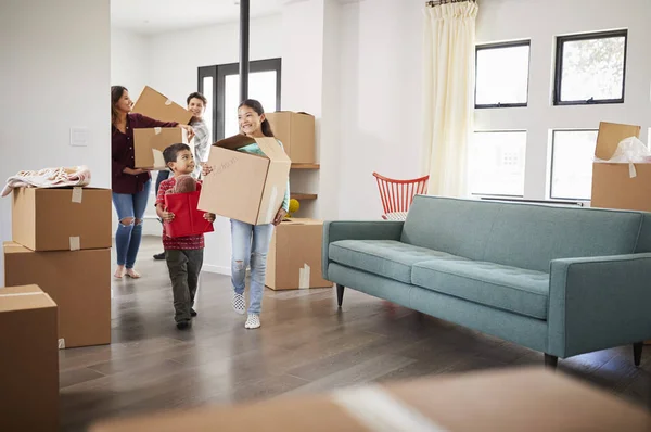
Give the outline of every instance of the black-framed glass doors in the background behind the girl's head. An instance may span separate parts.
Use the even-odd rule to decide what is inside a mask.
[[[260,101],[265,111],[280,110],[281,60],[250,63],[248,97]],[[240,66],[238,63],[199,68],[199,91],[208,99],[206,122],[212,141],[237,135],[240,104]],[[209,94],[208,94],[209,93]]]

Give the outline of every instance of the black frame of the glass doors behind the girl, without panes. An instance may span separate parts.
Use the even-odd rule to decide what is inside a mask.
[[[281,97],[281,82],[282,82],[282,59],[265,59],[265,60],[255,60],[248,63],[248,72],[269,72],[276,71],[276,106],[273,110],[267,110],[269,112],[279,111],[280,110],[280,97]],[[219,141],[224,139],[225,134],[225,124],[224,124],[224,103],[225,103],[225,92],[226,92],[226,76],[227,75],[239,75],[240,74],[240,63],[227,63],[215,66],[202,66],[199,68],[197,79],[199,79],[199,91],[203,90],[203,78],[212,76],[213,77],[213,117],[210,120],[213,122],[213,139],[215,141]],[[266,111],[267,111],[266,110]]]

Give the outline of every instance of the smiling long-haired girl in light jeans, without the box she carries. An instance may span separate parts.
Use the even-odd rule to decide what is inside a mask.
[[[248,99],[238,107],[238,122],[240,132],[251,138],[273,137],[271,125],[265,117],[263,105],[253,99]],[[282,148],[282,143],[278,144]],[[248,144],[238,151],[265,155],[257,143]],[[203,174],[207,175],[214,167],[204,165]],[[273,227],[278,226],[288,214],[290,206],[290,180],[281,207],[278,209],[272,224],[251,225],[240,220],[231,219],[231,282],[233,285],[233,309],[243,315],[246,312],[244,303],[244,288],[246,267],[251,265],[251,288],[248,300],[248,317],[244,325],[247,329],[260,327],[260,312],[263,306],[263,293],[267,276],[267,253],[271,243]]]

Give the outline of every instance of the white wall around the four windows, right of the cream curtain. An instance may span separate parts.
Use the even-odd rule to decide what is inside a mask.
[[[478,110],[477,130],[526,129],[524,198],[547,198],[549,130],[595,128],[600,120],[651,126],[651,1],[649,0],[484,0],[477,42],[531,39],[526,109]],[[554,37],[628,28],[625,103],[552,106]]]

